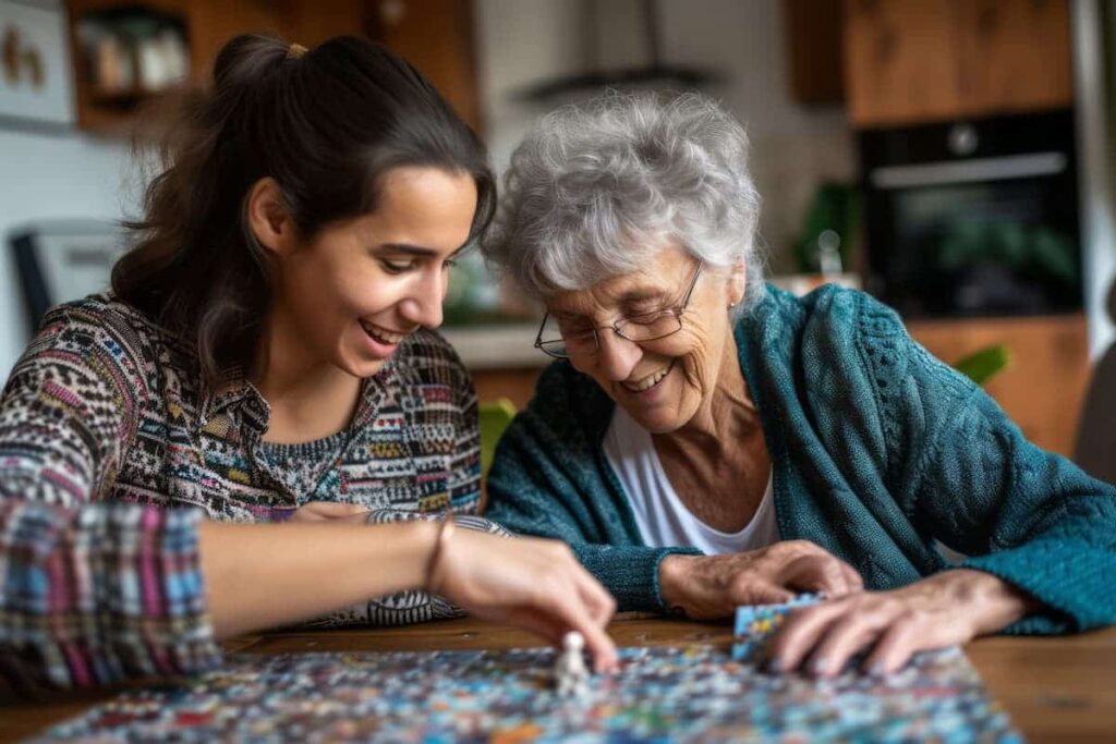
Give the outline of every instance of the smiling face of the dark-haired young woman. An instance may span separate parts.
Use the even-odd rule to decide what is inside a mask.
[[[302,352],[369,377],[408,334],[440,326],[448,269],[475,210],[468,173],[400,167],[384,177],[374,213],[278,257],[276,306]]]

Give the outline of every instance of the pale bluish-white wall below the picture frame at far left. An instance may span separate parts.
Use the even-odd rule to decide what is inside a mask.
[[[127,155],[117,142],[0,129],[0,381],[28,341],[9,231],[38,220],[134,214],[134,189],[124,186]]]

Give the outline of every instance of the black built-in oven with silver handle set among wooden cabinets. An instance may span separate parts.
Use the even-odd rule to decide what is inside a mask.
[[[859,133],[867,289],[904,317],[1079,310],[1071,110]]]

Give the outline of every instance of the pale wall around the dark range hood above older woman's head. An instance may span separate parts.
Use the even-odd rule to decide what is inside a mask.
[[[790,244],[818,181],[853,180],[856,151],[839,106],[815,109],[790,100],[780,4],[660,0],[658,28],[664,61],[724,76],[709,93],[748,129],[752,175],[764,197],[760,232],[773,268],[792,270]],[[516,144],[546,110],[510,100],[512,91],[585,71],[594,58],[604,68],[646,61],[637,6],[632,0],[600,2],[595,41],[585,38],[587,6],[578,0],[478,0],[480,89],[497,168],[502,172]]]

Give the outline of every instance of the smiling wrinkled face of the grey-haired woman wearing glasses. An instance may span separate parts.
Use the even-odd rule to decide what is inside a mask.
[[[677,307],[696,269],[689,253],[667,248],[645,269],[547,298],[547,310],[570,330],[609,326],[622,317]],[[710,404],[724,366],[738,364],[728,308],[741,300],[743,290],[742,268],[706,265],[681,330],[637,344],[604,328],[598,330],[597,351],[575,354],[570,363],[648,432],[677,431]]]

